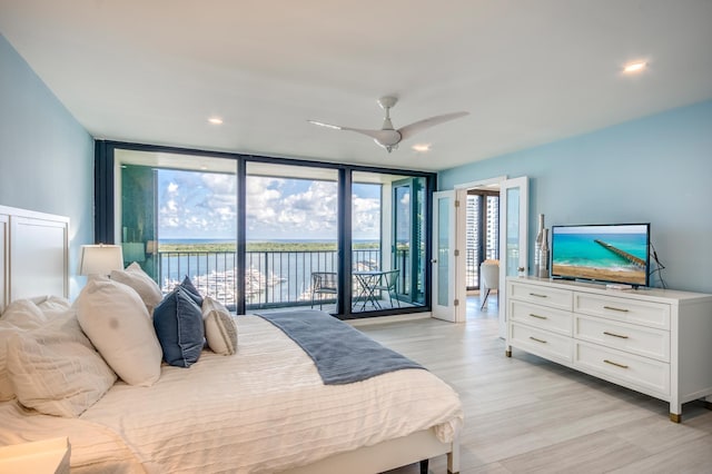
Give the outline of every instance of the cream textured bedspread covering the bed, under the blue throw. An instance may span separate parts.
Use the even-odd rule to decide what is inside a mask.
[[[116,472],[140,472],[138,460],[148,473],[267,473],[431,426],[448,443],[462,425],[457,394],[426,371],[325,386],[281,330],[257,316],[237,320],[236,355],[204,352],[190,368],[165,365],[151,387],[119,382],[79,419],[0,405],[0,444],[51,432],[70,436],[72,467],[87,471],[122,457]]]

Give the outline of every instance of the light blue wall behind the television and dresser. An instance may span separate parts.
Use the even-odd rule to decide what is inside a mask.
[[[668,287],[712,293],[712,101],[444,170],[438,182],[504,175],[530,177],[531,256],[538,214],[546,227],[651,223]]]

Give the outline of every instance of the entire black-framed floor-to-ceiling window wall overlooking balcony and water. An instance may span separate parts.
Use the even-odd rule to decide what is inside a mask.
[[[97,145],[96,240],[239,313],[427,310],[435,175]]]

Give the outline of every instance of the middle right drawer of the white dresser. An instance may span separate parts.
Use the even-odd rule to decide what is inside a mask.
[[[612,319],[576,315],[574,337],[661,362],[670,362],[670,333]]]

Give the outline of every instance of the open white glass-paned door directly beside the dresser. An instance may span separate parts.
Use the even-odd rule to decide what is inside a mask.
[[[500,188],[500,336],[506,337],[506,277],[526,275],[528,178],[506,179]]]

